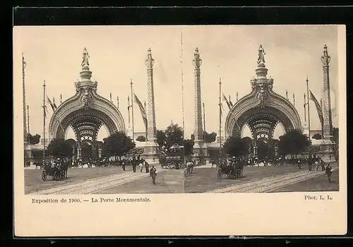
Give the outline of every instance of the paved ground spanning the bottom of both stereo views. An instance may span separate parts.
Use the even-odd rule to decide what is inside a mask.
[[[149,174],[132,172],[131,167],[68,169],[68,179],[42,181],[42,169],[25,169],[25,193],[30,194],[114,194],[114,193],[261,193],[285,191],[338,191],[337,165],[333,181],[328,183],[323,171],[309,171],[305,166],[245,167],[241,179],[217,179],[216,167],[195,167],[184,177],[183,169],[157,167],[157,184]]]

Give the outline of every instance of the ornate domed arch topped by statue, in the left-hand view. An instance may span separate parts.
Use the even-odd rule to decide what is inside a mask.
[[[109,135],[117,131],[126,131],[124,119],[119,109],[109,100],[97,94],[97,81],[90,80],[87,49],[83,50],[80,80],[75,83],[76,94],[64,101],[54,112],[49,123],[49,138],[65,138],[71,126],[76,139],[83,134],[92,136],[95,143],[102,125],[107,127]]]

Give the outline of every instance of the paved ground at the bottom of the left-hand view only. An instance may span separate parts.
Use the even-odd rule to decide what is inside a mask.
[[[157,184],[149,174],[126,167],[76,168],[68,170],[68,179],[42,181],[42,170],[25,170],[25,193],[30,194],[109,194],[109,193],[184,193],[183,170],[157,167]]]

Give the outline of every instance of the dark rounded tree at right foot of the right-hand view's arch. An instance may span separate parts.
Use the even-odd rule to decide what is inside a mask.
[[[292,130],[280,136],[278,147],[281,155],[298,155],[310,147],[310,140],[300,130]]]

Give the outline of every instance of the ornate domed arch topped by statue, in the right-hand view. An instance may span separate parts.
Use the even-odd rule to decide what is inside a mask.
[[[267,78],[264,50],[258,49],[258,68],[256,78],[250,81],[251,92],[241,98],[229,110],[225,121],[226,136],[241,135],[245,124],[248,124],[254,136],[257,132],[268,133],[273,138],[273,131],[278,122],[285,131],[301,129],[297,109],[285,97],[273,92],[273,78]],[[256,138],[255,138],[256,139]]]

